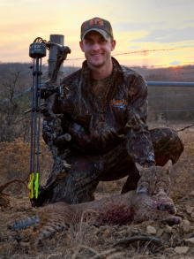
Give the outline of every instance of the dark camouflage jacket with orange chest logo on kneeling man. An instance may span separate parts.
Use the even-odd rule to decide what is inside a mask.
[[[56,96],[52,110],[63,114],[63,133],[71,134],[69,149],[102,155],[123,142],[135,162],[153,164],[146,81],[113,57],[112,61],[113,72],[101,99],[93,95],[85,61],[82,69],[63,79],[64,97]]]

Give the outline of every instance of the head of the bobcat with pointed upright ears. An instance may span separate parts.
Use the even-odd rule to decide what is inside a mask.
[[[138,181],[138,193],[147,193],[150,195],[169,194],[170,179],[169,173],[172,168],[172,161],[169,160],[164,166],[151,166],[148,168],[136,164],[140,174]]]

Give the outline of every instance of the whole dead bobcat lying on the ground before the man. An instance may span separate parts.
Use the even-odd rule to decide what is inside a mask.
[[[93,225],[124,225],[149,219],[163,221],[168,225],[179,224],[181,218],[172,215],[175,214],[175,207],[168,198],[171,161],[163,167],[143,168],[138,164],[137,167],[141,175],[138,194],[115,194],[99,201],[79,204],[48,204],[35,209],[34,217],[16,221],[9,227],[16,231],[33,225],[30,244],[37,246],[54,232],[65,230],[83,220]]]

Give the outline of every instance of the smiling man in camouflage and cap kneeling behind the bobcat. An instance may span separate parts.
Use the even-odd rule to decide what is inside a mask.
[[[44,114],[43,138],[54,166],[35,206],[92,201],[99,181],[124,176],[129,177],[122,193],[128,192],[140,178],[135,163],[175,163],[183,152],[175,131],[148,131],[146,81],[111,57],[116,41],[108,20],[84,22],[79,44],[86,61],[62,81],[64,97],[55,96],[51,112],[59,116]]]

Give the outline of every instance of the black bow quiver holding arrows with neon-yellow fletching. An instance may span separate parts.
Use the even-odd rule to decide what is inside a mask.
[[[55,42],[47,42],[41,37],[38,37],[30,44],[29,56],[33,58],[33,86],[31,88],[31,141],[30,141],[30,179],[28,183],[29,198],[37,199],[40,190],[40,123],[41,123],[41,98],[48,98],[54,92],[58,92],[60,88],[41,89],[41,58],[46,57],[47,50],[50,47],[56,46],[56,65],[51,73],[49,81],[55,82],[57,73],[63,60],[67,54],[71,53],[69,47],[57,44]],[[47,85],[46,85],[47,86]],[[47,87],[46,87],[47,88]]]

